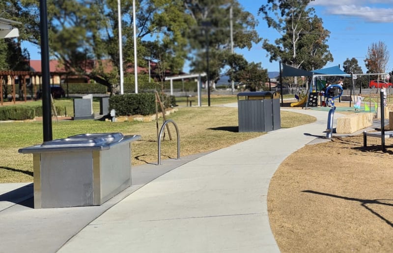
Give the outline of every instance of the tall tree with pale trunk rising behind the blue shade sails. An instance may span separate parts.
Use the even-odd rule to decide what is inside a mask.
[[[259,15],[268,27],[281,37],[274,44],[267,39],[262,48],[270,55],[270,62],[281,61],[295,68],[313,70],[323,67],[333,56],[326,44],[329,31],[322,19],[308,8],[310,0],[268,0],[259,8]]]

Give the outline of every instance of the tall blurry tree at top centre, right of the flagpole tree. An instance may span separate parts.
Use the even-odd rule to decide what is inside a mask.
[[[253,43],[260,41],[255,30],[257,21],[237,0],[185,0],[184,6],[194,21],[194,25],[185,31],[192,71],[209,72],[212,82],[219,78],[225,59],[231,54],[230,8],[233,13],[233,47],[251,49]]]

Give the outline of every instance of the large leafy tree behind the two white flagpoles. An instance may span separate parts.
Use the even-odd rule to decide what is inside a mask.
[[[71,1],[74,1],[71,3]],[[108,87],[118,83],[119,48],[118,48],[118,17],[117,0],[67,0],[54,2],[56,8],[52,24],[61,25],[53,29],[53,51],[58,58],[70,68],[85,66],[86,59],[102,59],[99,65],[92,66],[94,71],[84,73],[99,83]],[[133,10],[131,0],[121,1],[122,42],[124,45],[123,58],[125,66],[134,62]],[[170,50],[176,54],[185,47],[186,41],[180,35],[183,26],[187,25],[183,17],[187,17],[179,8],[179,1],[171,0],[140,0],[136,6],[138,62],[147,66],[144,49],[147,38],[160,38],[166,45],[172,44]],[[58,10],[58,11],[56,11]],[[65,12],[65,13],[63,13]],[[56,28],[56,27],[55,27]],[[164,47],[166,47],[164,45]],[[168,49],[168,47],[167,47]],[[169,50],[169,49],[168,49]],[[181,54],[179,53],[179,56]],[[168,60],[168,59],[167,59]],[[173,59],[174,60],[174,59]],[[183,58],[175,58],[179,65],[183,65]],[[106,65],[108,63],[110,66]],[[182,62],[183,61],[183,62]],[[82,64],[78,64],[81,63]],[[108,68],[112,67],[112,72]],[[78,68],[83,73],[82,68]]]

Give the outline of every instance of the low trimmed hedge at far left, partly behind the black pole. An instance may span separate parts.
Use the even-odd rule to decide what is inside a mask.
[[[56,106],[57,115],[66,115],[65,106]],[[4,120],[31,120],[42,117],[42,106],[1,106],[0,121]]]

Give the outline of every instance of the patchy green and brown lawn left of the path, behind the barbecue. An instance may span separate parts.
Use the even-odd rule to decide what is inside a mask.
[[[212,103],[216,104],[215,99]],[[222,99],[222,101],[233,101]],[[57,100],[64,103],[67,100]],[[72,104],[71,104],[72,105]],[[180,132],[181,156],[222,149],[257,136],[260,132],[238,132],[237,108],[228,107],[179,107],[177,112],[167,116],[173,119]],[[281,127],[295,127],[315,121],[315,118],[298,113],[281,111]],[[159,120],[159,127],[163,121]],[[18,153],[20,148],[41,144],[43,127],[41,122],[0,123],[0,183],[32,181],[32,155]],[[168,134],[162,143],[162,159],[175,158],[177,154],[176,134],[169,124],[172,141]],[[132,164],[157,162],[156,122],[104,122],[94,120],[54,121],[53,139],[80,133],[121,132],[124,135],[139,134],[140,141],[132,144]],[[206,141],[209,140],[209,141]],[[268,145],[268,144],[267,144]]]

